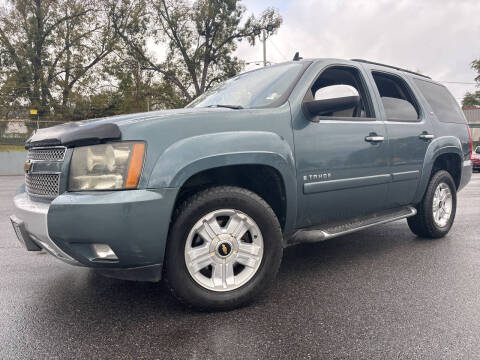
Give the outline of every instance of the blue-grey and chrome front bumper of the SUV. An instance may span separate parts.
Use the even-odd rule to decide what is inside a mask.
[[[176,189],[64,193],[46,203],[21,192],[14,198],[12,221],[20,224],[27,241],[67,263],[116,278],[158,281],[176,193]],[[118,259],[98,259],[93,244],[108,245]]]

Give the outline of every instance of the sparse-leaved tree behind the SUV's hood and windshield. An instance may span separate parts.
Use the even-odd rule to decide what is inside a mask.
[[[273,9],[244,19],[239,0],[111,0],[110,6],[124,44],[144,69],[178,89],[183,103],[241,70],[242,61],[233,55],[238,42],[254,45],[263,31],[270,35],[282,22]],[[146,50],[148,41],[166,48],[164,60]]]

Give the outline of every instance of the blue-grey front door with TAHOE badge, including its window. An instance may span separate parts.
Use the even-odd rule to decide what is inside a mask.
[[[323,68],[308,89],[311,100],[359,96],[358,105],[293,117],[299,227],[368,215],[385,208],[390,174],[388,139],[360,68]]]

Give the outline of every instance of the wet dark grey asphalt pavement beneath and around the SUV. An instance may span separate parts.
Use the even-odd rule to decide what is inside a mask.
[[[290,247],[270,291],[222,313],[27,252],[8,219],[22,181],[0,177],[0,359],[480,358],[480,174],[445,238],[403,220]]]

